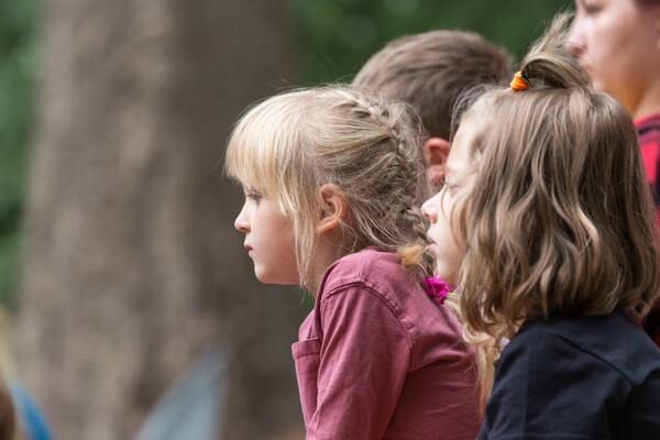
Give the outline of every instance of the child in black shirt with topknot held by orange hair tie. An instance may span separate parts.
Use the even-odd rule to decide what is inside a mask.
[[[468,336],[504,346],[479,439],[659,439],[660,351],[635,322],[660,290],[653,202],[626,109],[562,47],[568,20],[462,113],[422,210]]]

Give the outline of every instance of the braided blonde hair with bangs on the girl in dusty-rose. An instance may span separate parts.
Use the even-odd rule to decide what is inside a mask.
[[[409,268],[431,272],[419,206],[428,196],[422,131],[404,103],[344,86],[298,89],[249,110],[233,130],[226,170],[273,197],[294,224],[301,285],[323,208],[320,188],[346,199],[341,254],[376,246],[398,252]]]

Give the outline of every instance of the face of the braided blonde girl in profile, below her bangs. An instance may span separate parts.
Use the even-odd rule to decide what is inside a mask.
[[[298,284],[294,226],[271,197],[244,188],[245,204],[234,228],[245,233],[243,246],[256,278],[266,284]]]

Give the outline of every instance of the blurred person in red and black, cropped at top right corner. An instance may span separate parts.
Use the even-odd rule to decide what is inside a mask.
[[[660,0],[575,0],[575,9],[566,47],[632,117],[660,219]],[[644,324],[660,346],[660,304]]]

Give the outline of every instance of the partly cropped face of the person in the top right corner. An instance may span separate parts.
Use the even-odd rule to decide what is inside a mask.
[[[594,87],[635,116],[660,74],[660,6],[636,0],[575,0],[566,48]]]

